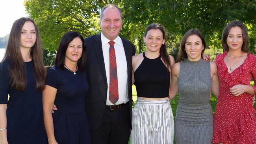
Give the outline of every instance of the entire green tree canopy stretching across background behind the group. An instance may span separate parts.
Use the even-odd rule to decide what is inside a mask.
[[[241,20],[249,31],[250,52],[256,54],[255,0],[26,0],[24,5],[39,27],[44,48],[54,51],[67,31],[78,31],[83,37],[99,33],[99,11],[111,3],[122,9],[120,35],[134,42],[137,53],[145,50],[143,34],[152,22],[165,26],[169,52],[174,55],[180,39],[192,28],[202,32],[209,52],[221,53],[224,26]]]

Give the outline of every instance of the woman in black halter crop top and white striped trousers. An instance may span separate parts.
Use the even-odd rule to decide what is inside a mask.
[[[132,57],[137,102],[132,112],[131,144],[173,144],[173,113],[168,99],[174,59],[167,54],[161,24],[147,26],[146,52]]]

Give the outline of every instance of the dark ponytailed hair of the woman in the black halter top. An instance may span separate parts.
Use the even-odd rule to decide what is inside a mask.
[[[165,28],[161,24],[157,24],[157,23],[152,23],[152,24],[148,25],[147,28],[146,28],[146,31],[144,33],[144,36],[146,37],[148,31],[152,30],[152,29],[160,30],[163,33],[163,39],[165,39],[165,41],[167,41],[167,34],[165,32]],[[160,56],[163,59],[163,62],[165,63],[167,68],[169,70],[171,70],[170,58],[169,58],[169,55],[167,54],[166,47],[167,47],[166,42],[161,45],[161,47],[160,47]]]

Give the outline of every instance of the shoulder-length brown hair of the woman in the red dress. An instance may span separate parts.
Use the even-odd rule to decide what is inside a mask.
[[[248,36],[247,28],[243,24],[243,22],[240,22],[239,20],[231,21],[228,25],[226,25],[226,27],[222,31],[221,41],[222,41],[223,50],[226,51],[226,52],[229,51],[228,44],[227,44],[228,33],[229,33],[231,28],[236,27],[236,26],[240,27],[241,30],[242,30],[242,36],[243,36],[242,51],[243,52],[248,52],[248,50],[249,50],[249,36]]]

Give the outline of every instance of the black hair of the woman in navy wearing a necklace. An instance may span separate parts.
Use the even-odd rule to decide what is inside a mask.
[[[54,65],[56,65],[57,67],[64,68],[65,55],[66,55],[67,48],[69,46],[69,42],[73,41],[73,39],[76,37],[79,37],[81,39],[81,41],[83,42],[83,52],[82,52],[82,56],[78,60],[77,66],[81,71],[85,70],[85,63],[86,63],[85,43],[84,43],[82,35],[75,31],[69,31],[69,32],[65,33],[65,35],[63,35],[63,37],[61,38],[61,40],[59,42],[59,47],[57,50]]]

